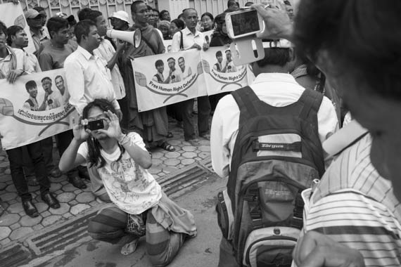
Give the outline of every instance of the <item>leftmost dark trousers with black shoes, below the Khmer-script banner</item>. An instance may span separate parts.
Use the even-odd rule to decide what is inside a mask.
[[[34,173],[40,185],[40,193],[44,195],[44,193],[49,192],[50,181],[47,176],[40,141],[26,145],[25,147],[34,165]],[[23,148],[13,148],[6,150],[6,152],[8,161],[10,162],[11,177],[13,178],[13,183],[17,189],[18,195],[23,201],[32,200],[32,195],[29,193],[23,171]]]

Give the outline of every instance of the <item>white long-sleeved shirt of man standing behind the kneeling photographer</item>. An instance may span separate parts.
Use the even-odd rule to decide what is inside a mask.
[[[105,98],[116,110],[120,110],[106,64],[81,46],[65,59],[65,80],[70,92],[70,103],[79,115],[96,98]]]

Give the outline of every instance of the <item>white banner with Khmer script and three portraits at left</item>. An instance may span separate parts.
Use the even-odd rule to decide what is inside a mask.
[[[72,128],[78,118],[68,103],[64,70],[0,79],[0,133],[4,150],[34,143]],[[46,89],[46,91],[45,91]]]

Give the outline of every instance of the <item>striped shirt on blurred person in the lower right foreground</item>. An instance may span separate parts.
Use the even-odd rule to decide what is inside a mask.
[[[358,249],[367,267],[400,266],[401,205],[371,164],[370,148],[367,135],[333,161],[305,202],[304,230]]]

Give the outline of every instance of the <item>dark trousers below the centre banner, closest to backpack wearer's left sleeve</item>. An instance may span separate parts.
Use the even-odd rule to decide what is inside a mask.
[[[185,141],[196,138],[193,124],[193,99],[180,103],[182,107],[182,122],[184,124]],[[210,102],[208,96],[198,97],[198,133],[200,136],[209,133]]]

